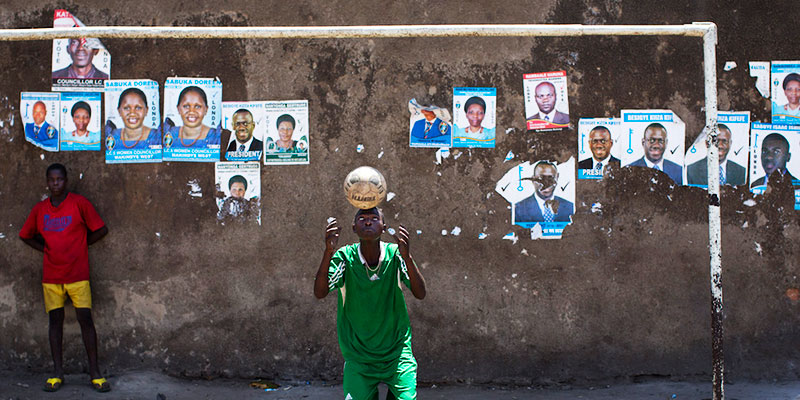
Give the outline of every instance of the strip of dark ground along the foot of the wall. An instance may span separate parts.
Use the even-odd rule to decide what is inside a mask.
[[[322,382],[277,382],[277,390],[253,389],[248,380],[184,380],[152,371],[126,372],[110,377],[110,393],[95,393],[86,375],[67,375],[56,393],[45,393],[41,374],[0,371],[0,400],[119,399],[119,400],[300,400],[341,399],[341,385]],[[385,388],[382,388],[385,392]],[[381,395],[381,399],[384,396]],[[420,385],[419,398],[458,400],[703,400],[711,399],[707,382],[647,382],[615,384],[599,388],[497,388],[462,385]],[[725,386],[727,400],[800,400],[800,382],[736,383]]]

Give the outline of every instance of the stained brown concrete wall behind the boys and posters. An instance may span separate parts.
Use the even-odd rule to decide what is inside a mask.
[[[690,23],[719,25],[720,109],[770,116],[749,60],[800,58],[797,7],[662,1],[150,3],[21,0],[0,6],[5,28],[47,27],[55,8],[90,25],[352,25],[441,23]],[[100,153],[43,153],[24,140],[19,93],[49,90],[51,43],[0,43],[0,364],[49,368],[41,254],[17,239],[46,195],[44,169],[68,166],[70,189],[94,202],[111,233],[91,248],[104,369],[160,368],[190,376],[335,379],[342,359],[334,296],[312,282],[329,216],[350,220],[341,182],[382,170],[397,197],[390,224],[422,234],[412,251],[428,282],[407,296],[423,381],[580,382],[643,375],[710,376],[706,195],[645,169],[580,181],[562,240],[531,241],[511,227],[494,191],[517,160],[574,156],[574,130],[526,133],[521,74],[566,69],[570,111],[614,116],[669,108],[703,125],[701,42],[690,38],[105,40],[115,78],[218,76],[225,100],[308,99],[308,166],[262,167],[263,225],[215,219],[212,165],[106,165]],[[497,148],[434,164],[408,148],[408,111],[452,104],[454,86],[498,90]],[[163,90],[163,89],[162,89]],[[356,152],[356,145],[365,150]],[[378,154],[383,152],[381,158]],[[516,160],[515,160],[516,161]],[[202,197],[188,194],[196,179]],[[745,201],[754,200],[754,205]],[[601,214],[590,205],[603,204]],[[789,182],[764,196],[722,190],[728,376],[797,378],[800,214]],[[441,235],[453,227],[460,236]],[[485,240],[477,235],[484,230]],[[345,227],[347,228],[347,227]],[[354,241],[345,229],[340,243]],[[521,239],[501,240],[510,231]],[[253,256],[253,255],[256,256]],[[67,367],[83,368],[68,311]]]

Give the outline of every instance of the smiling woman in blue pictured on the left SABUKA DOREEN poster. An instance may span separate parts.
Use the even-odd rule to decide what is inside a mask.
[[[113,103],[112,103],[113,104]],[[125,89],[119,95],[117,112],[124,126],[117,128],[110,123],[111,132],[107,133],[106,148],[112,150],[115,144],[122,144],[120,149],[149,149],[152,145],[161,144],[161,134],[157,129],[150,129],[144,124],[147,117],[147,96],[138,88]],[[76,124],[77,126],[77,124]]]

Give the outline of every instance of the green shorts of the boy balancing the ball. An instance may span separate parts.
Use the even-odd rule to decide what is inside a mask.
[[[410,347],[403,349],[398,360],[386,363],[345,361],[345,400],[377,400],[379,383],[389,386],[388,399],[416,400],[417,360]]]

